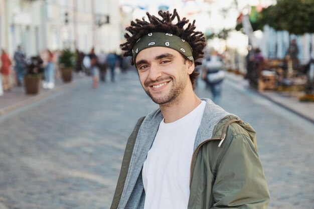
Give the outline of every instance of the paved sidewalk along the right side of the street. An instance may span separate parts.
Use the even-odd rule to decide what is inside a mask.
[[[248,81],[241,75],[226,72],[226,78],[239,84],[245,85],[249,88]],[[257,92],[257,91],[256,91]],[[300,102],[298,98],[304,95],[303,92],[275,92],[265,90],[258,92],[261,96],[278,104],[281,107],[303,117],[304,119],[314,123],[314,103],[313,102]]]

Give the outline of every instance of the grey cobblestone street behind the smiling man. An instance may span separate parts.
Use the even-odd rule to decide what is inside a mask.
[[[257,132],[268,208],[314,208],[314,125],[230,80],[220,105]],[[131,71],[0,117],[0,209],[109,208],[127,138],[157,107]]]

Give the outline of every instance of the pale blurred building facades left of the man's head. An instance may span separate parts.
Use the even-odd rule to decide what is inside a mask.
[[[117,51],[120,16],[114,0],[0,0],[0,48],[11,56],[43,49]]]

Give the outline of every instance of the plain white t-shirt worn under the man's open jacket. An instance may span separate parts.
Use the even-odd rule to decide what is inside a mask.
[[[172,123],[160,123],[144,161],[145,209],[183,209],[190,195],[190,165],[206,102]]]

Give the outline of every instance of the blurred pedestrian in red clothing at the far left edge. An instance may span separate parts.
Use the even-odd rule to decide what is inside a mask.
[[[2,86],[4,91],[11,91],[10,68],[12,62],[4,49],[1,51],[1,68]]]

